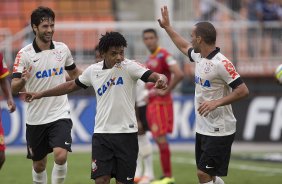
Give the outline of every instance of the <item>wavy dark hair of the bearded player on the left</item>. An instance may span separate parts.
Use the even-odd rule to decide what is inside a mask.
[[[33,25],[38,26],[45,19],[51,19],[55,21],[55,13],[51,8],[39,6],[38,8],[33,10],[30,16],[30,24],[31,24],[32,30],[33,30]],[[33,33],[35,34],[34,30],[33,30]]]

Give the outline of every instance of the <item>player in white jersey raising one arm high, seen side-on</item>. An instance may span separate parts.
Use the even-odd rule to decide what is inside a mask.
[[[196,163],[200,183],[222,184],[227,176],[236,119],[231,104],[248,96],[249,91],[233,64],[220,53],[216,30],[209,22],[197,23],[191,46],[170,25],[167,7],[158,20],[171,40],[195,62]]]

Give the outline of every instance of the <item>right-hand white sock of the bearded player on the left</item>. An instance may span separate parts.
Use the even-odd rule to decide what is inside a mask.
[[[52,184],[63,184],[67,176],[67,162],[63,165],[58,165],[54,162],[52,170]]]

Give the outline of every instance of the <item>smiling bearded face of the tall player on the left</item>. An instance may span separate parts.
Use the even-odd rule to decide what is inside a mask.
[[[49,43],[52,41],[53,34],[54,34],[54,20],[51,18],[45,18],[43,21],[38,25],[33,25],[33,30],[36,33],[36,38],[40,39],[44,43]]]

